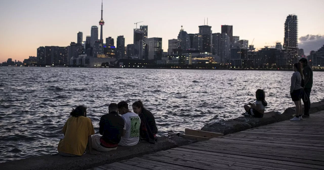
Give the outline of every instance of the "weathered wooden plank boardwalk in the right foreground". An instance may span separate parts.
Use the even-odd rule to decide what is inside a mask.
[[[324,111],[91,170],[324,170]]]

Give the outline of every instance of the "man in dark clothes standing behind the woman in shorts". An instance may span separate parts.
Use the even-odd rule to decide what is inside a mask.
[[[310,92],[312,90],[313,86],[313,70],[312,68],[307,64],[307,59],[302,58],[299,60],[303,64],[304,70],[303,74],[305,76],[305,86],[304,86],[304,95],[307,97],[302,97],[304,102],[304,115],[303,118],[309,118],[309,109],[310,109]]]

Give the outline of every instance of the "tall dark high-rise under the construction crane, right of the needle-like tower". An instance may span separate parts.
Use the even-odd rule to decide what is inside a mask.
[[[134,29],[134,57],[137,59],[145,59],[147,53],[145,53],[145,40],[147,38],[147,26],[141,26],[139,29]]]

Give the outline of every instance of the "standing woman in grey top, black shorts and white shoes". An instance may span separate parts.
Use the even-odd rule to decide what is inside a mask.
[[[301,98],[303,95],[304,75],[302,71],[302,64],[295,63],[293,66],[294,73],[291,76],[290,96],[296,105],[296,116],[290,121],[300,121],[302,118],[302,103]]]

